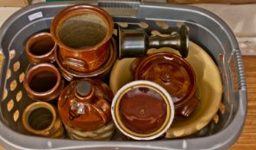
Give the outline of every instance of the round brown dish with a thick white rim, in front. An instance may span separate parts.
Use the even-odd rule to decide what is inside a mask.
[[[117,129],[134,140],[164,135],[174,117],[170,94],[152,81],[129,82],[118,90],[111,108]]]

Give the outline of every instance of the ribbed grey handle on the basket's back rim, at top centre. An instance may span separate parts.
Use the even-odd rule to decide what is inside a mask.
[[[97,5],[110,15],[136,16],[141,0],[97,0]]]

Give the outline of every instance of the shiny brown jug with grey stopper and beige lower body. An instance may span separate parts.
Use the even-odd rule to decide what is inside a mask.
[[[59,95],[59,115],[67,134],[77,140],[109,140],[114,132],[113,93],[102,81],[72,81]]]

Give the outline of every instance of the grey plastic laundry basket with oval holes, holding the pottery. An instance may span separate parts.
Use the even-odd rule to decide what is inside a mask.
[[[227,149],[234,144],[247,114],[247,87],[240,49],[226,23],[208,11],[192,6],[127,2],[103,1],[99,5],[108,8],[115,22],[128,22],[130,26],[136,26],[144,21],[149,25],[149,30],[161,30],[155,21],[165,21],[171,29],[183,22],[190,28],[190,40],[203,47],[215,60],[222,74],[222,104],[225,106],[223,113],[218,112],[218,123],[210,122],[201,134],[172,140],[74,141],[25,135],[21,116],[31,100],[22,87],[22,77],[29,64],[24,45],[34,33],[49,31],[54,15],[61,9],[78,2],[38,3],[20,9],[0,29],[0,50],[3,52],[0,81],[1,146],[6,149]],[[116,7],[126,8],[119,10],[133,13],[122,14],[122,11],[115,10]],[[170,33],[166,30],[161,32]],[[14,53],[13,57],[10,57],[11,53]],[[234,71],[231,63],[234,63]]]

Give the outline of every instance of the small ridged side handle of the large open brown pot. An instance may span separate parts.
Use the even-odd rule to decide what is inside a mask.
[[[82,60],[73,57],[65,57],[63,59],[63,65],[69,66],[69,68],[76,68],[76,69],[87,69],[88,65]]]

